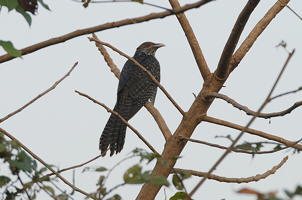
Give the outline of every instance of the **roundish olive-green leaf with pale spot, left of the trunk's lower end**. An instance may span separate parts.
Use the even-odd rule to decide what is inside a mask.
[[[145,173],[141,173],[141,167],[139,165],[134,165],[124,174],[124,181],[129,184],[141,184],[144,183],[146,179],[147,177]]]

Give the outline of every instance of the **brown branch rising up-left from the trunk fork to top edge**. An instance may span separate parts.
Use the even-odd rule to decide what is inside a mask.
[[[173,9],[181,8],[181,6],[177,0],[169,0],[169,2]],[[207,1],[207,2],[210,2],[210,1]],[[202,51],[201,51],[198,41],[195,37],[193,29],[184,13],[177,14],[176,18],[179,21],[179,24],[181,25],[181,27],[187,37],[188,43],[191,47],[192,53],[194,55],[195,61],[197,63],[197,66],[198,66],[201,76],[203,78],[203,81],[208,82],[211,72],[203,57]]]

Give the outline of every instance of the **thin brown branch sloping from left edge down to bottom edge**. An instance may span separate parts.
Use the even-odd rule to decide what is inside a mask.
[[[11,134],[9,134],[8,132],[6,132],[4,129],[0,128],[0,132],[2,132],[3,134],[5,134],[6,136],[8,136],[9,138],[11,138],[11,140],[13,141],[17,141],[20,146],[26,151],[28,152],[31,156],[33,156],[33,158],[35,158],[36,160],[38,160],[41,164],[43,164],[45,167],[47,167],[51,172],[53,172],[57,177],[59,177],[64,183],[66,183],[67,185],[69,185],[72,189],[74,189],[75,191],[79,191],[80,193],[83,193],[84,195],[93,198],[95,200],[98,200],[96,197],[90,195],[89,193],[79,189],[78,187],[75,187],[73,184],[71,184],[70,182],[68,182],[65,178],[63,178],[57,171],[55,171],[49,164],[46,164],[41,158],[39,158],[36,154],[34,154],[31,150],[29,150],[25,145],[23,145],[19,140],[17,140],[14,136],[12,136]]]

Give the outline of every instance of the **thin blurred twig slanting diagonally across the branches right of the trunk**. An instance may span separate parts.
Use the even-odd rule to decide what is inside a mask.
[[[253,123],[253,121],[256,119],[256,117],[258,116],[258,114],[261,112],[261,110],[264,108],[264,106],[270,101],[271,95],[274,92],[284,70],[285,67],[287,66],[291,56],[293,55],[294,50],[292,50],[292,52],[288,55],[288,58],[281,70],[281,72],[279,73],[279,76],[277,78],[277,80],[275,81],[271,91],[269,92],[267,98],[265,99],[265,101],[263,102],[263,104],[261,105],[261,107],[258,109],[257,113],[253,116],[253,118],[249,121],[249,123],[244,127],[244,129],[242,130],[242,132],[238,135],[238,137],[233,141],[232,145],[224,152],[224,154],[218,159],[218,161],[212,166],[212,168],[207,172],[207,174],[204,176],[204,178],[201,179],[201,181],[196,185],[196,187],[191,191],[191,193],[188,195],[189,197],[192,196],[192,194],[200,187],[200,185],[206,180],[206,178],[208,177],[208,175],[218,166],[218,164],[225,158],[226,155],[228,155],[231,150],[234,148],[234,145],[237,143],[237,141],[241,138],[241,136],[247,131],[247,129],[249,128],[249,126]]]

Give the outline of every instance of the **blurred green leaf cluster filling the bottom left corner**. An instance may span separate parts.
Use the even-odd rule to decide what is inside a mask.
[[[35,199],[36,193],[40,190],[45,190],[55,199],[68,198],[65,193],[55,195],[53,188],[45,186],[45,182],[51,181],[49,176],[42,174],[47,168],[42,167],[38,170],[36,161],[21,148],[19,142],[6,140],[3,133],[0,133],[0,158],[3,164],[9,164],[11,171],[10,177],[0,176],[2,199],[14,200],[21,195],[28,199]],[[22,181],[21,174],[24,173],[30,178],[30,181]]]

